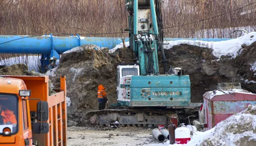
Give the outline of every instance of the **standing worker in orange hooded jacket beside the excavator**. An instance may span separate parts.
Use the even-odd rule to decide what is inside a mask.
[[[98,103],[99,103],[99,110],[104,110],[105,105],[108,104],[108,98],[106,96],[105,88],[103,85],[98,86]]]

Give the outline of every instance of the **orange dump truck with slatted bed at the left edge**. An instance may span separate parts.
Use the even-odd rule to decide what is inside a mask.
[[[66,77],[0,76],[0,145],[67,145]]]

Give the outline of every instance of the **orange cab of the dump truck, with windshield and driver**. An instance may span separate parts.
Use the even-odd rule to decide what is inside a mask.
[[[2,77],[0,77],[2,78]],[[23,80],[0,79],[0,135],[1,144],[24,145],[32,143],[30,109],[28,96],[19,93],[30,93]],[[26,140],[28,139],[28,140]],[[19,141],[19,143],[16,143]]]

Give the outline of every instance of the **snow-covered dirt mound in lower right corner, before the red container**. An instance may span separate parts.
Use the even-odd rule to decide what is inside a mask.
[[[256,106],[234,114],[217,124],[215,131],[200,145],[254,145],[256,140]]]

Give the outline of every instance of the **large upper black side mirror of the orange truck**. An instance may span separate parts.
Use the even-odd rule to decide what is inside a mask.
[[[39,121],[47,121],[49,118],[49,106],[47,102],[38,102],[36,106],[36,119]]]

